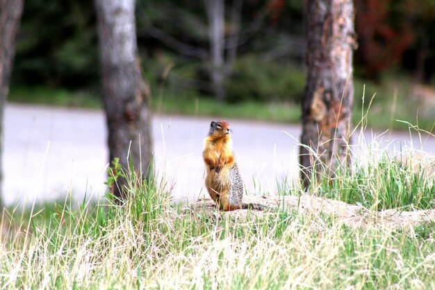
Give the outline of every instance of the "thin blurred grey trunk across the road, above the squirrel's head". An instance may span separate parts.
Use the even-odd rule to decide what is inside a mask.
[[[211,83],[213,94],[222,102],[224,92],[224,26],[225,26],[225,3],[224,0],[206,0],[208,17],[208,35],[211,50]]]

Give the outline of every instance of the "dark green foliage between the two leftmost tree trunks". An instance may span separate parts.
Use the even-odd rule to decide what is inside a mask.
[[[88,1],[26,1],[13,84],[95,88],[98,63],[95,11]]]

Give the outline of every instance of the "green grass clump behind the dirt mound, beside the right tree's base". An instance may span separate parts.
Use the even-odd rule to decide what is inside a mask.
[[[401,161],[384,154],[377,163],[356,161],[352,171],[338,170],[334,179],[323,178],[312,191],[377,211],[433,209],[435,163],[432,161],[432,166],[425,168],[416,160],[409,156],[407,161]]]

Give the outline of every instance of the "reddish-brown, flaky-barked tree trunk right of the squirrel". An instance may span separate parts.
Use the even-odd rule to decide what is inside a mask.
[[[352,162],[350,145],[356,46],[352,0],[306,1],[307,82],[302,101],[299,161],[307,188],[311,177]]]

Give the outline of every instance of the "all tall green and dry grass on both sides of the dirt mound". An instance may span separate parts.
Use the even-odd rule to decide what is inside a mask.
[[[400,211],[409,202],[418,208],[433,207],[433,173],[423,170],[434,165],[429,159],[410,163],[416,159],[395,161],[367,152],[359,158],[354,174],[343,172],[335,179],[323,175],[311,193],[344,197],[372,209],[398,207]],[[353,228],[334,216],[297,209],[247,218],[218,211],[192,213],[182,204],[173,204],[170,193],[158,184],[165,183],[144,182],[131,173],[130,198],[123,207],[108,197],[96,203],[45,204],[24,214],[19,208],[5,211],[0,227],[1,287],[435,287],[434,220],[404,229],[382,222]]]

